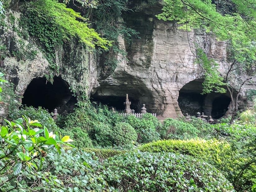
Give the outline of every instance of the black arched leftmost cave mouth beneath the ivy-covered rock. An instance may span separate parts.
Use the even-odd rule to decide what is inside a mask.
[[[49,112],[56,108],[58,114],[72,112],[75,103],[77,99],[72,96],[69,84],[57,76],[53,78],[53,83],[48,82],[46,78],[34,78],[22,98],[22,105],[34,108],[41,106]]]

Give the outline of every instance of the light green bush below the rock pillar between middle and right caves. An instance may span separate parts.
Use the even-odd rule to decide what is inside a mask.
[[[191,123],[179,121],[173,118],[166,118],[159,130],[164,139],[191,139],[196,138],[200,131]]]

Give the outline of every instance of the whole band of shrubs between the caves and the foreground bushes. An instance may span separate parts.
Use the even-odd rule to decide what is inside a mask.
[[[233,183],[237,191],[250,190],[256,181],[256,128],[252,124],[236,122],[233,125],[210,125],[197,118],[192,118],[190,122],[182,118],[168,118],[161,124],[151,114],[145,114],[142,118],[135,118],[133,115],[124,117],[111,112],[106,106],[94,107],[90,103],[83,103],[82,106],[66,117],[59,117],[56,123],[60,128],[50,114],[41,108],[22,108],[11,117],[28,115],[31,119],[38,119],[50,130],[69,135],[74,139],[72,144],[79,148],[106,148],[85,149],[92,153],[93,159],[99,158],[100,162],[114,155],[123,156],[123,149],[139,149],[152,155],[171,152],[190,155],[212,164]],[[156,141],[160,136],[173,140]],[[193,139],[175,140],[188,138]],[[132,141],[144,145],[132,144]],[[151,141],[155,142],[148,143]],[[138,148],[134,145],[138,145]],[[114,185],[115,181],[112,181],[110,185]],[[116,187],[121,189],[117,184]]]

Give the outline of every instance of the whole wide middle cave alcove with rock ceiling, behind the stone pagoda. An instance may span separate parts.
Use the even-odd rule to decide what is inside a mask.
[[[119,74],[115,76],[115,83],[103,81],[99,87],[92,90],[91,101],[100,102],[116,110],[124,110],[126,94],[131,101],[130,108],[136,113],[141,111],[143,104],[146,105],[147,112],[156,113],[152,92],[145,86],[140,79],[134,79],[129,74]]]

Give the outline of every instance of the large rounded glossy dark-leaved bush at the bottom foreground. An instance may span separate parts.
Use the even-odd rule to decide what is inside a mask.
[[[109,185],[119,191],[234,191],[216,168],[186,155],[138,151],[103,166]]]

